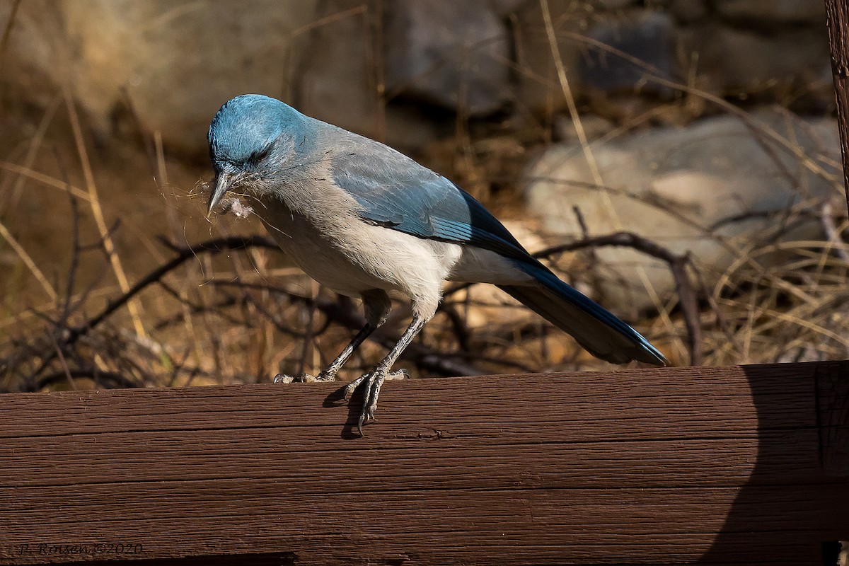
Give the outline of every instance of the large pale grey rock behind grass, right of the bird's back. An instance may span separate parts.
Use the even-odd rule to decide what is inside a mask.
[[[828,160],[840,160],[835,120],[801,120],[767,111],[754,119],[792,140],[790,147],[800,149],[815,166],[834,172]],[[761,143],[779,156],[793,178],[784,176]],[[687,128],[637,132],[592,149],[609,191],[595,188],[579,144],[554,146],[526,170],[531,213],[548,230],[581,238],[572,209],[577,206],[593,235],[622,229],[677,254],[690,252],[709,284],[746,250],[773,244],[781,236],[782,220],[767,213],[834,191],[833,180],[812,174],[770,137],[759,142],[731,116]],[[818,222],[798,220],[799,233],[819,233]],[[654,306],[640,270],[661,298],[674,292],[669,269],[661,261],[626,248],[598,249],[597,258],[597,291],[605,305],[621,313]],[[760,256],[758,261],[769,258]]]

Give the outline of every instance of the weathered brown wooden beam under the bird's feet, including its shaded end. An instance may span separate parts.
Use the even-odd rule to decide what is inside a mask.
[[[0,563],[819,564],[847,375],[391,382],[362,439],[338,384],[3,395]]]

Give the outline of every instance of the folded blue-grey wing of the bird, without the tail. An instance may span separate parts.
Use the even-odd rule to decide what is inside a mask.
[[[419,238],[531,259],[469,193],[393,149],[369,146],[368,155],[336,155],[332,167],[334,182],[357,200],[364,220]]]

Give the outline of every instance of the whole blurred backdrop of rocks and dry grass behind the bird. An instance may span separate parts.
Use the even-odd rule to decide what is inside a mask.
[[[346,344],[356,302],[205,218],[245,92],[453,179],[676,365],[846,358],[827,40],[822,0],[0,0],[0,389],[267,382]],[[610,369],[486,285],[408,354]]]

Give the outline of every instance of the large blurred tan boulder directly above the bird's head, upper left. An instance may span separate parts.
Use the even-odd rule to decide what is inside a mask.
[[[173,148],[205,151],[211,116],[245,92],[280,97],[297,71],[290,34],[315,20],[316,0],[58,3],[70,81],[102,129],[122,89],[149,130]],[[295,40],[296,41],[296,40]]]

